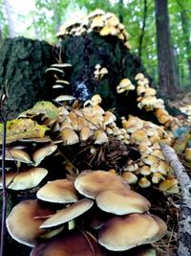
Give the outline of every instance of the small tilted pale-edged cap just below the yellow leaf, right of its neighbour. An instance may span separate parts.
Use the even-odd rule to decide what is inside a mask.
[[[43,148],[40,148],[37,151],[34,151],[32,154],[32,159],[34,162],[34,166],[37,166],[40,164],[40,162],[46,157],[52,154],[54,151],[56,151],[57,146],[56,145],[48,145]]]

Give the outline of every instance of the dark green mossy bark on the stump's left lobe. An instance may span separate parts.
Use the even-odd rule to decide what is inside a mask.
[[[46,68],[53,63],[53,46],[24,37],[8,38],[0,48],[0,91],[8,83],[8,119],[36,102],[51,100]]]

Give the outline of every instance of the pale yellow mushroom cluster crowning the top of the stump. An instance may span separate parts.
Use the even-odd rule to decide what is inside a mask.
[[[96,32],[101,36],[117,36],[123,45],[130,49],[129,34],[122,23],[119,22],[117,15],[112,12],[104,12],[97,9],[88,15],[69,21],[60,27],[58,37],[64,35],[87,35]]]

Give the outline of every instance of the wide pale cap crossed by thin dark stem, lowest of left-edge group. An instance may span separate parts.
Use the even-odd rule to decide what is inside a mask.
[[[9,172],[6,174],[6,184],[9,184],[9,189],[25,190],[32,189],[37,186],[41,180],[48,175],[48,171],[44,168],[32,168],[18,174]],[[2,176],[0,176],[0,187],[3,186]]]

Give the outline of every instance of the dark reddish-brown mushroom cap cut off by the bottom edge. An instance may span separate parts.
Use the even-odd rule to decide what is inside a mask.
[[[71,230],[48,242],[36,245],[30,256],[104,256],[101,246],[88,233]]]

